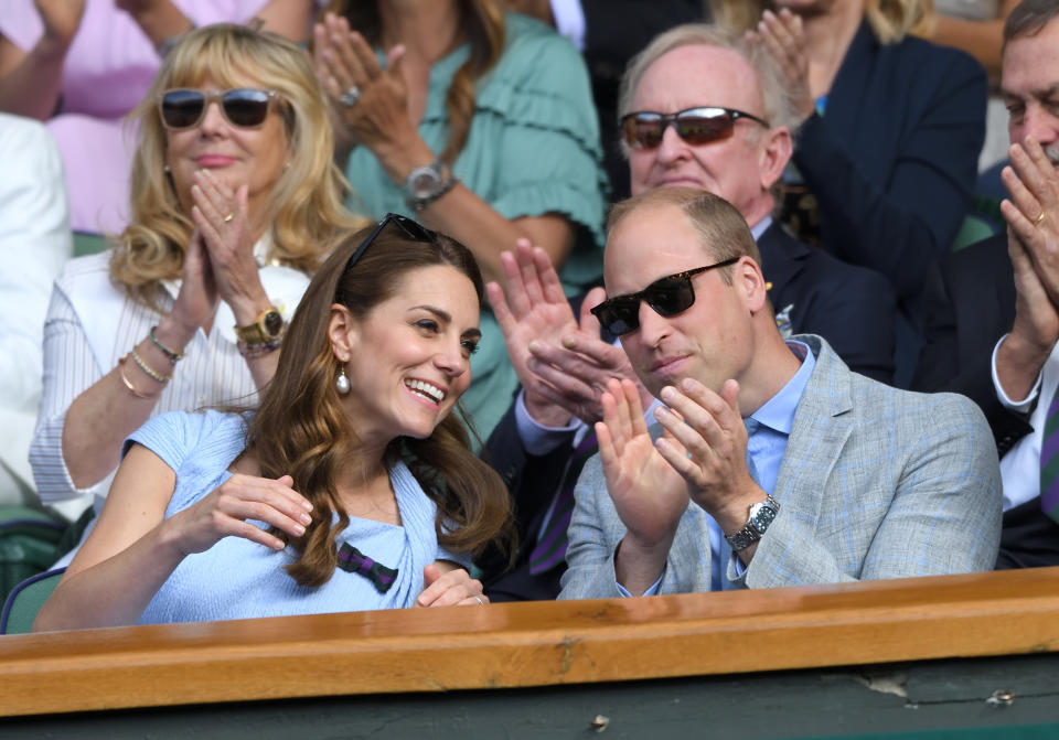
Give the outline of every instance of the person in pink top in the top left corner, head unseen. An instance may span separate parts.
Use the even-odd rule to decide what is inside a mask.
[[[172,42],[192,28],[248,22],[301,41],[313,0],[3,0],[0,111],[46,121],[58,142],[75,230],[128,218],[140,103]]]

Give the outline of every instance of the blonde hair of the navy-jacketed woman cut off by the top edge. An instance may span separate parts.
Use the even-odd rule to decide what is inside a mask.
[[[709,0],[714,20],[739,32],[755,28],[771,0]],[[867,0],[864,15],[880,44],[896,44],[907,35],[929,36],[933,0]]]

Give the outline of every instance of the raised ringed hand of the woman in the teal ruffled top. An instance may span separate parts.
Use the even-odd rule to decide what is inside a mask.
[[[389,160],[419,138],[408,112],[408,86],[400,69],[404,53],[404,46],[394,46],[383,69],[364,36],[351,31],[345,18],[328,13],[313,29],[317,76],[339,114],[344,138],[372,150],[395,181],[407,172],[396,171]],[[360,93],[356,101],[343,104],[343,94],[354,88]]]

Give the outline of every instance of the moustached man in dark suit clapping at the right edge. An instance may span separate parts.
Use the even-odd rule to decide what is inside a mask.
[[[942,264],[950,305],[931,320],[914,386],[962,393],[990,421],[1004,483],[997,568],[1055,566],[1059,511],[1041,451],[1049,458],[1056,441],[1047,421],[1059,387],[1057,0],[1025,0],[1012,11],[1001,89],[1012,116],[1008,233]]]

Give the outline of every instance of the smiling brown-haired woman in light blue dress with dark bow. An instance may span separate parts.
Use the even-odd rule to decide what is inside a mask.
[[[507,521],[451,414],[482,280],[466,247],[384,218],[313,278],[254,411],[133,433],[34,629],[484,604],[466,567]]]

